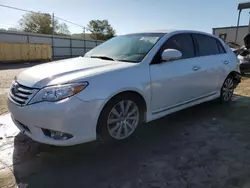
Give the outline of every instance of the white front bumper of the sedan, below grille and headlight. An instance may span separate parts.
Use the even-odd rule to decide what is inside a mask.
[[[41,102],[18,106],[8,97],[13,122],[21,132],[35,141],[70,146],[96,139],[96,125],[102,100],[84,102],[70,97],[58,102]],[[49,129],[73,135],[67,140],[55,140],[42,131]]]

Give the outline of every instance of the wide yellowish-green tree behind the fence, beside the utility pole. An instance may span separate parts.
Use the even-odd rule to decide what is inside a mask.
[[[52,16],[43,13],[26,13],[19,20],[22,31],[49,35],[53,34],[52,23]],[[54,19],[54,34],[69,35],[70,32],[65,23],[60,24],[57,19]]]

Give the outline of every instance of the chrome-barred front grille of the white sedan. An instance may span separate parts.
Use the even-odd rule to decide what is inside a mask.
[[[23,86],[17,82],[11,85],[9,96],[18,105],[28,104],[30,99],[38,92],[38,89]]]

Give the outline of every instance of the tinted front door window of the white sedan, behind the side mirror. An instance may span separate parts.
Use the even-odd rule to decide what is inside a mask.
[[[193,39],[190,34],[178,34],[167,40],[162,51],[166,49],[176,49],[182,53],[182,58],[195,57]]]

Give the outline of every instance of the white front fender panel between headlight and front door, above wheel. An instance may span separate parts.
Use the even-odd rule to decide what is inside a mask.
[[[108,101],[113,96],[124,91],[135,91],[141,94],[145,101],[150,101],[150,77],[148,64],[135,64],[95,75],[86,79],[89,85],[76,95],[83,101],[104,100]]]

